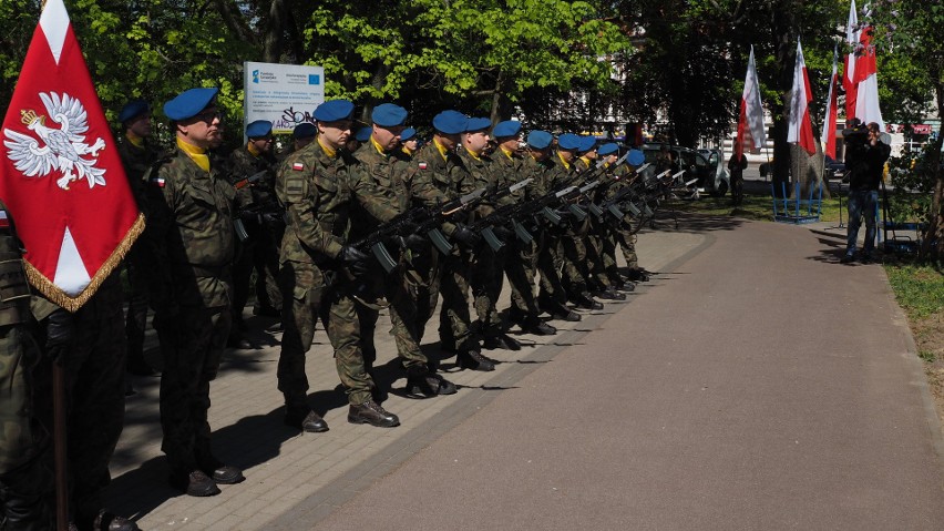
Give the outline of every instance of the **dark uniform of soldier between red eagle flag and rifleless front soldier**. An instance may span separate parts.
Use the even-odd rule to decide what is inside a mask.
[[[143,140],[143,144],[138,146],[132,143],[126,136],[119,141],[117,152],[124,166],[129,185],[131,185],[131,193],[137,202],[137,210],[146,216],[147,203],[144,175],[161,154],[146,140]],[[143,245],[143,242],[135,242],[125,256],[124,265],[127,270],[129,283],[125,334],[127,335],[129,364],[146,368],[147,365],[144,360],[144,329],[147,326],[147,278],[145,277],[147,265],[142,263],[144,259],[141,251]]]

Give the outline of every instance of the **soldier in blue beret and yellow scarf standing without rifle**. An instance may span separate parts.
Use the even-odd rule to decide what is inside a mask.
[[[170,482],[189,496],[219,493],[243,472],[213,456],[209,382],[232,324],[235,191],[207,151],[222,142],[217,89],[191,89],[164,104],[176,147],[151,171],[151,300],[161,340],[161,449]]]

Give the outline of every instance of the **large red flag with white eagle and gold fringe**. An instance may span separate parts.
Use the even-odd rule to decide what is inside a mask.
[[[144,229],[62,0],[49,0],[3,119],[0,198],[37,289],[71,312]]]

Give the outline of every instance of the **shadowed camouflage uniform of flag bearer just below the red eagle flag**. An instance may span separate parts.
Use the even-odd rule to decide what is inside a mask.
[[[104,508],[103,493],[111,482],[109,461],[124,423],[124,369],[126,343],[122,324],[122,288],[112,273],[78,312],[71,315],[72,337],[57,362],[62,364],[68,405],[65,430],[70,484],[70,519],[85,527]],[[33,297],[39,327],[35,337],[45,343],[47,317],[53,303]],[[52,433],[52,360],[43,357],[35,376],[37,415]],[[52,459],[52,452],[48,458]],[[52,463],[49,463],[52,469]],[[52,484],[49,486],[50,491]]]

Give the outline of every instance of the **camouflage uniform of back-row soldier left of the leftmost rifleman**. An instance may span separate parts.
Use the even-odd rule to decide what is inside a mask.
[[[230,153],[227,165],[229,182],[234,185],[258,172],[267,172],[260,181],[236,191],[237,210],[242,211],[239,217],[249,236],[243,242],[239,257],[233,264],[233,323],[236,325],[242,324],[243,308],[249,299],[253,269],[256,269],[257,312],[281,308],[277,280],[278,246],[285,234],[285,223],[275,196],[275,157],[266,153],[253,155],[243,146]]]

